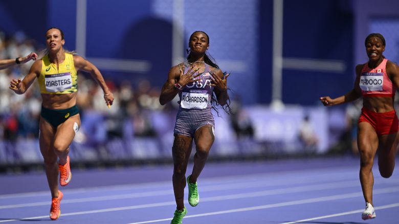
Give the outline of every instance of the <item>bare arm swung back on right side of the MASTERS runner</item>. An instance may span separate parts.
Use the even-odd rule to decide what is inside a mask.
[[[94,64],[92,64],[90,61],[87,61],[78,55],[74,56],[74,64],[77,71],[82,70],[92,75],[92,77],[97,81],[97,83],[102,88],[102,91],[104,92],[105,103],[107,105],[112,105],[112,103],[114,102],[114,95],[113,93],[111,93],[111,91],[109,91],[109,88],[105,84],[105,80],[102,77],[100,71],[97,69],[97,67]]]

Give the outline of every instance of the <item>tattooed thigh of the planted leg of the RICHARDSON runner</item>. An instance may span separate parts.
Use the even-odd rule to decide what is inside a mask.
[[[174,165],[187,163],[192,148],[192,138],[188,136],[175,135],[172,147]]]

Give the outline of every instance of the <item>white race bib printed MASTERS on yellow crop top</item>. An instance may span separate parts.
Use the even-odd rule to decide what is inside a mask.
[[[46,90],[51,93],[62,92],[72,87],[71,73],[61,73],[45,76]]]

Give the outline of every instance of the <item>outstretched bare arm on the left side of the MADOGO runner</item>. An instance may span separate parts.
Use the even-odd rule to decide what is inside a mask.
[[[354,100],[359,99],[362,96],[362,89],[359,86],[360,82],[360,72],[362,71],[363,64],[358,64],[356,66],[356,80],[354,81],[353,88],[351,91],[346,93],[343,96],[337,97],[335,99],[331,99],[330,97],[320,97],[320,101],[324,104],[324,106],[334,106],[342,103],[352,102]]]

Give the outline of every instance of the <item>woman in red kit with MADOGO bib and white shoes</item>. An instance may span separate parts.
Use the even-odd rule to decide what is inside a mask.
[[[393,108],[396,88],[399,86],[399,66],[387,60],[385,38],[372,33],[365,40],[368,62],[356,66],[353,89],[335,99],[321,97],[324,106],[351,102],[363,96],[362,114],[358,123],[358,148],[360,152],[360,182],[366,201],[362,219],[375,218],[372,202],[374,177],[372,166],[378,152],[381,176],[388,178],[395,167],[398,143],[398,119]]]

